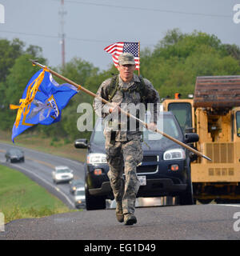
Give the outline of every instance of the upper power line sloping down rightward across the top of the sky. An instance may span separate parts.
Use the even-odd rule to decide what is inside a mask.
[[[54,2],[58,2],[59,0],[51,0]],[[138,6],[114,6],[108,5],[104,3],[95,3],[95,2],[82,2],[76,0],[66,0],[68,3],[76,3],[86,6],[102,6],[102,7],[111,7],[111,8],[119,8],[119,9],[126,9],[126,10],[146,10],[146,11],[154,11],[154,12],[162,12],[162,13],[170,13],[170,14],[185,14],[185,15],[198,15],[198,16],[205,16],[205,17],[219,17],[219,18],[231,18],[231,15],[224,15],[224,14],[203,14],[203,13],[192,13],[192,12],[185,12],[185,11],[178,11],[178,10],[164,10],[164,9],[153,9],[153,8],[146,8],[146,7],[138,7]]]

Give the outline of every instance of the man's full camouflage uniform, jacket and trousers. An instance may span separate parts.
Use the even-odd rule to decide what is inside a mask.
[[[120,74],[118,75],[119,86],[123,90],[117,90],[112,98],[112,102],[116,103],[134,103],[141,102],[141,95],[135,91],[128,91],[132,86],[139,86],[140,79],[134,74],[132,82],[125,83],[122,81]],[[97,95],[108,101],[108,90],[110,87],[111,78],[102,82],[99,87]],[[154,103],[154,110],[151,113],[150,122],[157,123],[157,103],[159,102],[159,95],[154,86],[144,78],[146,86],[146,103]],[[110,106],[103,104],[98,98],[94,99],[94,110],[98,116],[103,118],[109,115]],[[118,118],[117,118],[118,119]],[[134,214],[136,194],[138,193],[139,182],[136,174],[136,168],[139,162],[142,162],[142,145],[141,145],[141,131],[122,129],[126,128],[126,123],[120,123],[118,119],[118,128],[114,134],[114,140],[111,138],[113,132],[110,127],[106,127],[104,135],[106,138],[106,159],[110,166],[108,176],[110,184],[114,192],[114,198],[117,202],[117,208],[123,210],[123,214]],[[122,178],[123,172],[126,179]],[[118,209],[119,210],[119,209]],[[120,209],[121,210],[121,209]]]

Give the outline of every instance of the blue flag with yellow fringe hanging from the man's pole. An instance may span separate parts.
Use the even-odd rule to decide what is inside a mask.
[[[78,89],[68,83],[59,85],[48,70],[39,70],[30,78],[19,101],[20,106],[10,105],[10,109],[18,109],[12,141],[18,134],[38,123],[49,126],[60,121],[62,109],[77,93]]]

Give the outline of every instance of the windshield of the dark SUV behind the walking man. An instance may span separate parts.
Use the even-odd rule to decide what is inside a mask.
[[[170,135],[171,137],[177,138],[178,140],[182,138],[182,132],[178,129],[174,117],[170,114],[162,115],[160,114],[158,119],[158,130]],[[168,138],[162,136],[161,134],[152,132],[143,128],[143,141],[147,143],[159,143],[159,141],[165,142],[169,140]],[[91,141],[95,144],[102,145],[105,142],[104,134],[102,132],[102,118],[98,118],[95,126],[94,133],[92,134]]]

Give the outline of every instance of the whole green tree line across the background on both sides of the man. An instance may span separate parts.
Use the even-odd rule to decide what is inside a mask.
[[[11,42],[0,39],[0,57],[0,130],[11,130],[16,112],[10,110],[9,105],[19,104],[27,82],[37,72],[29,59],[38,59],[38,62],[49,65],[39,46],[26,48],[18,38]],[[182,98],[194,94],[197,76],[240,74],[240,48],[222,43],[214,34],[200,31],[183,34],[178,29],[169,30],[154,50],[141,50],[140,57],[141,75],[153,83],[161,98],[173,98],[176,92],[182,94]],[[64,69],[59,66],[50,68],[94,93],[103,80],[118,73],[114,65],[100,71],[82,58],[73,58]],[[76,94],[62,110],[60,122],[51,126],[34,126],[25,133],[37,132],[46,137],[66,138],[69,142],[76,138],[89,138],[90,132],[80,133],[77,128],[80,116],[77,108],[81,102],[92,103],[93,98],[81,92]]]

